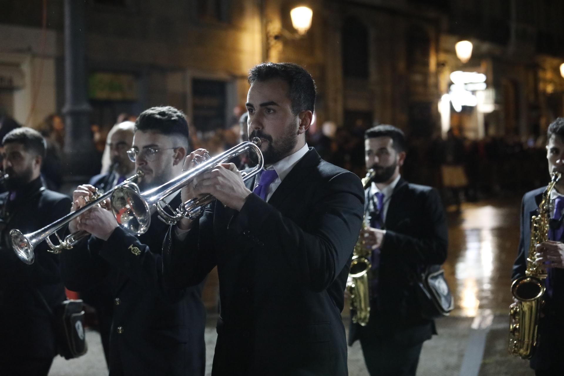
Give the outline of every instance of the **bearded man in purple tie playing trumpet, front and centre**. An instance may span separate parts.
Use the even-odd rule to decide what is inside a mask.
[[[212,375],[346,375],[341,311],[362,183],[307,147],[315,84],[305,69],[263,63],[248,81],[249,139],[261,139],[266,168],[244,182],[218,165],[183,189],[184,200],[217,200],[171,228],[165,277],[192,286],[218,267]]]

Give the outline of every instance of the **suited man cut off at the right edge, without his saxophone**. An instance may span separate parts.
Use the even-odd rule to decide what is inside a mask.
[[[559,117],[548,127],[547,160],[549,174],[564,173],[564,118]],[[546,187],[523,196],[521,205],[521,238],[513,265],[512,280],[526,275],[527,257],[531,246],[531,216],[537,215]],[[537,325],[536,346],[530,366],[537,376],[561,375],[564,351],[564,243],[562,218],[564,213],[564,179],[559,179],[549,194],[550,222],[548,240],[537,244],[534,261],[546,269],[544,304]]]

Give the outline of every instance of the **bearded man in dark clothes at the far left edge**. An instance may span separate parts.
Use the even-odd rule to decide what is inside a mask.
[[[2,143],[8,192],[0,195],[0,374],[47,375],[57,354],[50,309],[65,300],[59,258],[43,243],[36,262],[24,264],[7,237],[10,229],[35,231],[61,218],[70,200],[43,187],[46,144],[39,132],[17,128]]]

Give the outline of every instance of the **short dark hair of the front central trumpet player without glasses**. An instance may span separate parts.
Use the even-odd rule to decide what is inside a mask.
[[[280,78],[288,83],[288,97],[292,101],[294,115],[315,110],[315,82],[307,70],[293,63],[261,63],[249,70],[248,81],[268,81]]]

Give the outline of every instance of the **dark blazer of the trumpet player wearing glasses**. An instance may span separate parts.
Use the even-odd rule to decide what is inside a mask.
[[[180,205],[180,195],[170,205]],[[168,225],[156,214],[136,237],[116,228],[108,241],[90,237],[64,253],[61,273],[75,291],[112,282],[114,313],[110,334],[110,375],[204,375],[205,309],[202,286],[162,283],[162,240]]]

